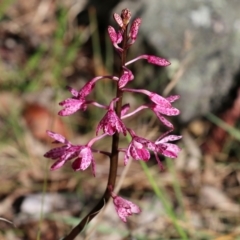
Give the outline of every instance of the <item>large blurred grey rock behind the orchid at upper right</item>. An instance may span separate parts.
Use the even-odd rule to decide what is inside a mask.
[[[175,87],[181,95],[177,105],[182,122],[219,109],[236,84],[234,75],[240,66],[239,1],[148,0],[138,4],[143,9],[140,33],[156,53],[178,60],[179,67],[189,59]]]

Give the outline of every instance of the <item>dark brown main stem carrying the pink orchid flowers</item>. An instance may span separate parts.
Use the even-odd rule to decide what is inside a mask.
[[[121,68],[119,77],[122,76],[124,69],[123,66],[126,63],[126,55],[127,55],[127,27],[123,33],[123,43],[122,49],[123,51],[120,53],[121,58]],[[116,98],[119,100],[116,102],[116,114],[119,118],[121,118],[121,109],[122,109],[122,97],[123,91],[117,85],[117,92]],[[111,197],[111,191],[114,190],[116,177],[117,177],[117,168],[118,168],[118,145],[119,145],[119,133],[116,132],[112,137],[112,148],[110,154],[110,168],[109,168],[109,175],[108,175],[108,183],[106,186],[106,190],[97,203],[97,205],[80,221],[80,223],[75,226],[72,231],[62,240],[73,240],[82,230],[84,227],[100,212],[100,210],[104,207],[104,205],[108,202]]]

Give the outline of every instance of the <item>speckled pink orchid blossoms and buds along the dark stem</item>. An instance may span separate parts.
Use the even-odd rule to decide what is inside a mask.
[[[119,30],[116,31],[115,28],[109,26],[108,34],[114,48],[120,55],[123,52],[123,48],[121,47],[124,37],[123,33],[126,30],[126,26],[130,21],[129,11],[123,11],[121,16],[115,13],[114,19],[119,26]],[[140,25],[140,18],[135,19],[131,24],[127,36],[127,48],[129,48],[136,41]],[[159,167],[162,169],[163,166],[159,159],[159,155],[170,158],[176,158],[178,156],[180,148],[176,144],[170,142],[180,139],[181,136],[169,135],[169,133],[173,130],[174,127],[172,123],[165,118],[165,116],[176,116],[180,113],[178,109],[172,106],[172,103],[176,101],[179,96],[174,95],[164,98],[158,93],[150,92],[146,89],[126,88],[126,85],[130,81],[134,80],[134,75],[130,71],[130,69],[127,68],[127,66],[141,59],[145,59],[148,63],[155,64],[160,67],[166,67],[170,64],[164,58],[153,55],[141,55],[136,57],[135,59],[126,62],[124,66],[122,66],[122,75],[120,77],[95,77],[89,82],[87,82],[79,91],[68,87],[68,90],[72,94],[72,97],[67,98],[59,103],[59,105],[63,107],[63,109],[58,113],[60,116],[69,116],[71,114],[74,114],[78,110],[85,111],[90,105],[105,109],[106,114],[99,121],[99,124],[96,128],[96,137],[91,139],[86,145],[73,145],[70,141],[68,141],[60,134],[47,131],[47,134],[54,139],[55,143],[61,144],[60,147],[53,148],[44,155],[46,158],[51,158],[55,161],[54,164],[51,166],[51,170],[59,169],[66,162],[73,160],[72,168],[74,171],[84,171],[89,166],[91,166],[92,173],[95,176],[96,163],[93,157],[93,153],[97,152],[106,154],[108,156],[110,156],[111,153],[95,150],[92,148],[92,145],[103,137],[112,136],[116,132],[121,133],[124,136],[129,133],[131,136],[131,142],[129,143],[129,145],[126,148],[119,148],[119,151],[125,153],[125,165],[128,163],[130,158],[133,158],[135,160],[143,160],[145,162],[149,161],[151,151],[155,155]],[[121,114],[117,114],[115,110],[115,104],[119,101],[118,97],[112,99],[109,105],[102,105],[92,99],[89,99],[89,95],[94,90],[97,81],[106,78],[116,82],[117,88],[123,93],[130,92],[133,94],[139,93],[146,95],[149,98],[149,103],[139,106],[137,109],[130,113],[128,113],[130,105],[125,104],[121,108]],[[143,109],[149,109],[150,111],[152,111],[157,116],[157,118],[167,128],[169,128],[169,130],[165,134],[160,136],[155,141],[151,141],[144,137],[138,136],[132,129],[128,128],[123,121],[127,117],[130,117]],[[98,136],[99,132],[101,131],[102,134]],[[131,203],[130,201],[124,200],[123,198],[116,196],[113,192],[111,192],[111,197],[113,198],[117,214],[122,221],[126,222],[126,217],[130,216],[132,213],[140,212],[140,208],[138,206]]]

